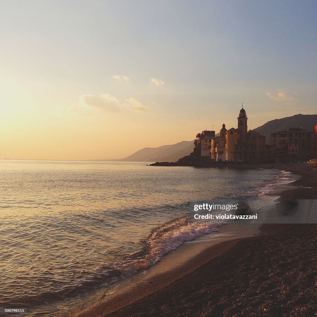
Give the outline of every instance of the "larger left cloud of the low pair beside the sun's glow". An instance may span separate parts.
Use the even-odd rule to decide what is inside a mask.
[[[120,111],[120,103],[118,99],[109,94],[100,95],[82,95],[79,97],[82,104],[93,108],[99,108],[107,112],[118,112]]]

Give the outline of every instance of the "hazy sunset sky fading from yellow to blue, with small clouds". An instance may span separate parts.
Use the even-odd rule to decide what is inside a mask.
[[[316,114],[316,1],[0,0],[0,158],[119,159]]]

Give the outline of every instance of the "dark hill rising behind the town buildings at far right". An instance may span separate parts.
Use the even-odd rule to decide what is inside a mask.
[[[267,137],[267,141],[270,139],[270,133],[274,133],[281,130],[287,130],[288,128],[300,128],[314,131],[314,127],[317,124],[317,114],[295,114],[291,117],[285,117],[282,119],[275,119],[268,121],[253,129],[256,132]]]

